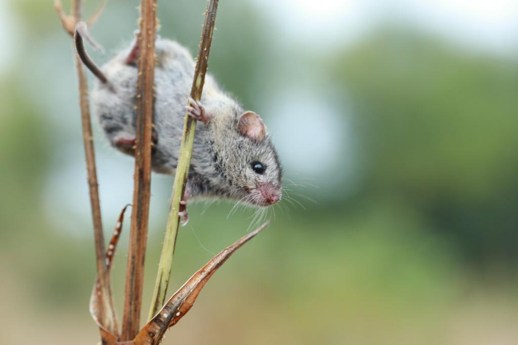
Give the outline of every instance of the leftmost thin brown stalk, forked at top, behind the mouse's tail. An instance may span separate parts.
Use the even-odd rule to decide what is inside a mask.
[[[68,33],[73,33],[73,27],[81,20],[81,1],[74,0],[72,3],[72,15],[66,16],[61,8],[59,1],[54,2],[54,7],[60,16],[63,28]],[[72,29],[71,29],[72,27]],[[77,54],[76,70],[79,80],[79,104],[81,109],[81,125],[83,134],[83,145],[85,159],[87,163],[88,186],[90,192],[90,204],[92,209],[92,220],[94,228],[94,242],[95,242],[95,260],[97,267],[97,276],[99,277],[99,291],[103,302],[99,305],[100,322],[102,322],[107,329],[116,332],[116,319],[111,302],[110,281],[107,275],[107,267],[105,262],[105,242],[103,235],[103,223],[100,215],[99,190],[97,184],[97,172],[95,165],[95,151],[93,144],[92,124],[90,121],[90,108],[88,101],[88,84],[84,75],[84,70],[81,61]]]

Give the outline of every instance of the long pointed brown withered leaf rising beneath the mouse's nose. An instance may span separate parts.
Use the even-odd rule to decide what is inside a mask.
[[[156,316],[144,326],[131,342],[134,345],[156,345],[170,326],[175,325],[193,306],[205,283],[218,268],[243,244],[264,230],[269,224],[265,222],[261,227],[243,236],[239,241],[226,247],[213,257],[205,266],[199,269],[178,291],[172,295]]]

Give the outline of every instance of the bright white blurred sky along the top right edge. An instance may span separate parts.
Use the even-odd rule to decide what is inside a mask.
[[[517,0],[254,1],[300,41],[350,41],[379,21],[396,19],[475,49],[511,53],[518,46]]]

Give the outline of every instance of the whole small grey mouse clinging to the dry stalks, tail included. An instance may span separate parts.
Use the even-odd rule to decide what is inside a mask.
[[[87,34],[85,28],[76,31],[76,47],[83,63],[98,79],[91,94],[93,110],[111,145],[133,155],[136,40],[99,70],[82,47],[81,35]],[[282,167],[261,117],[244,111],[210,74],[200,102],[190,99],[195,62],[189,51],[160,37],[155,50],[153,170],[175,174],[187,111],[197,125],[184,200],[215,197],[257,206],[277,203],[282,194]]]

